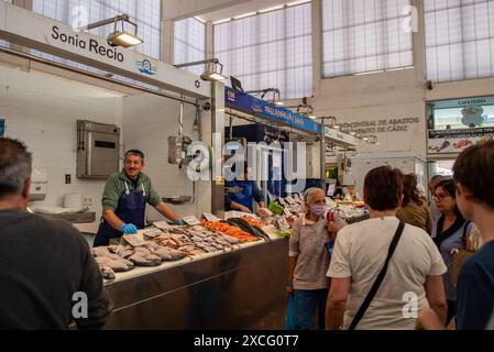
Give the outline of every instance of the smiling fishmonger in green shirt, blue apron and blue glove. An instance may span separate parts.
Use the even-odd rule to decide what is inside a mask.
[[[184,224],[178,215],[162,201],[151,179],[142,173],[144,154],[132,150],[125,153],[123,170],[108,178],[101,199],[103,213],[94,246],[108,245],[111,239],[144,229],[146,202],[177,224]]]

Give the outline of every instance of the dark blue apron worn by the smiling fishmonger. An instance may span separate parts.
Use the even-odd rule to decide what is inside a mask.
[[[142,191],[136,189],[129,190],[127,182],[125,190],[120,196],[119,205],[114,215],[124,223],[133,223],[138,229],[144,229],[144,216],[146,207],[146,193],[141,184]],[[92,246],[109,245],[111,239],[122,237],[122,232],[113,229],[103,218],[98,229]]]

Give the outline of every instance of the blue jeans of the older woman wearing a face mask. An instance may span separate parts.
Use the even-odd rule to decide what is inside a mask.
[[[317,329],[326,328],[328,292],[328,289],[294,290],[295,330],[316,330],[316,312],[318,312]]]

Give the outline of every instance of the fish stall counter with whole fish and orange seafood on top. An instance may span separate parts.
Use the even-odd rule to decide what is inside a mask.
[[[92,250],[114,305],[107,329],[282,329],[287,241],[241,218],[190,223]]]

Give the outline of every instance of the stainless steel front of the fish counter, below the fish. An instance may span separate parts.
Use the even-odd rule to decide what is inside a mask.
[[[107,329],[283,329],[288,241],[138,268],[106,284]]]

